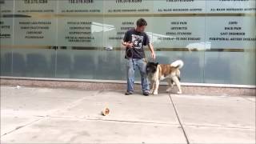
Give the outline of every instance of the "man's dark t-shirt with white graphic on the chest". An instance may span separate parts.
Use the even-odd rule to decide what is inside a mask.
[[[123,42],[131,42],[134,44],[133,48],[129,49],[126,47],[125,58],[145,58],[143,46],[150,43],[150,39],[146,33],[130,29],[126,31]]]

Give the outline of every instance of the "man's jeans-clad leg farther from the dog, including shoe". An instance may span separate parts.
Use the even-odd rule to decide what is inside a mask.
[[[134,62],[132,59],[127,60],[127,92],[126,94],[132,94],[134,92]]]

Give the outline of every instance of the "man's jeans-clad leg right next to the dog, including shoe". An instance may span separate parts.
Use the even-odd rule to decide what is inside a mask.
[[[149,80],[146,74],[146,62],[144,59],[139,59],[137,63],[138,69],[142,77],[142,91],[144,95],[148,95],[150,91]]]

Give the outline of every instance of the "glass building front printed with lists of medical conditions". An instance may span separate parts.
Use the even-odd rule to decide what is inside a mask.
[[[182,82],[256,83],[254,0],[0,3],[2,77],[126,80],[121,40],[145,18],[156,61],[182,59]]]

